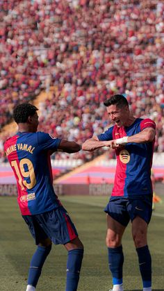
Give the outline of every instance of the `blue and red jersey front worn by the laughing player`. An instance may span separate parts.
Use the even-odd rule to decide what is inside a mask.
[[[129,127],[111,126],[98,135],[99,140],[116,140],[124,136],[140,133],[144,128],[156,128],[151,119],[137,118]],[[112,196],[133,197],[151,194],[151,165],[154,153],[154,141],[147,143],[128,143],[121,149],[115,149],[117,167]]]

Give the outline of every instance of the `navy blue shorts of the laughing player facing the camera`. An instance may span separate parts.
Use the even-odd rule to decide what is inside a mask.
[[[135,198],[111,196],[104,211],[123,226],[127,226],[130,220],[133,222],[136,216],[149,224],[152,214],[152,196],[151,194]]]

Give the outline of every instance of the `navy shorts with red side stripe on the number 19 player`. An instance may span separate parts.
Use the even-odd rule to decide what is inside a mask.
[[[46,238],[50,238],[54,244],[67,244],[78,237],[76,228],[63,206],[47,213],[22,215],[22,217],[36,244]]]

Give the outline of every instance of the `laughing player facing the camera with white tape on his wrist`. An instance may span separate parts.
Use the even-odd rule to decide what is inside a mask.
[[[152,213],[151,164],[156,124],[149,118],[134,117],[123,95],[110,97],[104,105],[115,125],[86,140],[82,149],[94,151],[101,147],[111,147],[115,149],[117,157],[113,192],[104,210],[107,213],[106,245],[113,276],[113,291],[123,290],[122,235],[130,220],[143,290],[151,291],[151,255],[147,245],[147,227]]]

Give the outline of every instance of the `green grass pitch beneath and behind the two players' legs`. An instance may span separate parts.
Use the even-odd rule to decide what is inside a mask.
[[[112,286],[105,245],[108,197],[60,197],[85,246],[79,291],[107,291]],[[24,223],[15,197],[0,197],[0,290],[26,290],[26,279],[35,244]],[[156,203],[149,225],[149,249],[152,256],[153,290],[164,290],[163,223],[164,203]],[[131,224],[123,238],[124,290],[142,290],[138,258],[131,238]],[[38,291],[64,291],[67,251],[53,246],[42,269]]]

